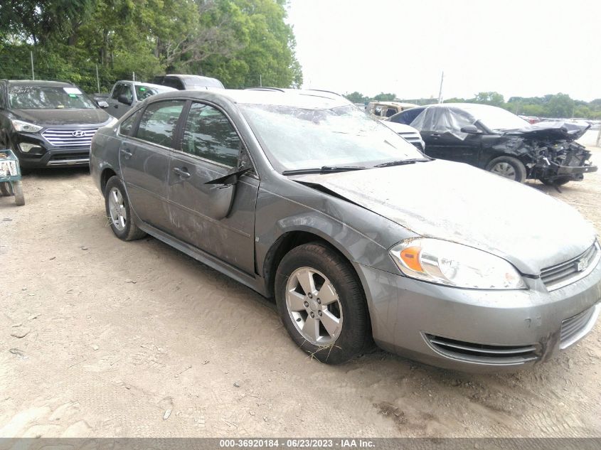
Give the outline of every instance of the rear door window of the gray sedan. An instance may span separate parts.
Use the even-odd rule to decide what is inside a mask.
[[[174,131],[182,109],[183,100],[151,103],[142,113],[136,137],[152,144],[173,147]]]

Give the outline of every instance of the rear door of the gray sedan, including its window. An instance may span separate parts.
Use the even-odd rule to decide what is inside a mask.
[[[132,136],[124,137],[119,149],[119,164],[132,208],[144,222],[164,231],[170,228],[169,156],[185,104],[185,100],[150,103],[139,113],[139,125],[132,130]]]

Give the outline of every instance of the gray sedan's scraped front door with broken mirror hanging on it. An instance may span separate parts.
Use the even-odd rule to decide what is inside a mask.
[[[218,218],[212,205],[220,186],[206,184],[250,161],[240,135],[216,105],[192,102],[183,121],[181,146],[169,164],[172,234],[244,272],[255,272],[255,205],[259,178],[254,169],[235,185],[233,205]],[[247,164],[250,165],[250,162]]]

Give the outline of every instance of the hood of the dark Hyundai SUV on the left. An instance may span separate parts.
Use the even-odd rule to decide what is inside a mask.
[[[14,109],[17,119],[41,126],[100,125],[110,119],[100,108],[85,109]]]

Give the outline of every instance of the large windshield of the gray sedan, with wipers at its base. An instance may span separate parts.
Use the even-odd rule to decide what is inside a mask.
[[[333,109],[240,105],[278,171],[375,166],[424,156],[352,105]]]

